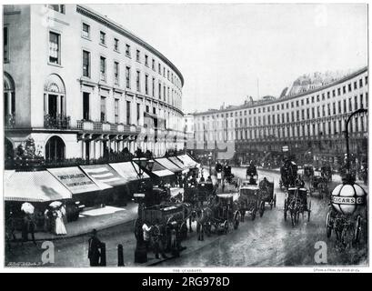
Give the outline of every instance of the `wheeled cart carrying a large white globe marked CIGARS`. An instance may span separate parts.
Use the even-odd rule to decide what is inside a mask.
[[[366,217],[366,192],[357,184],[341,184],[332,191],[327,213],[327,237],[336,234],[337,247],[357,245],[362,235],[363,216]]]

